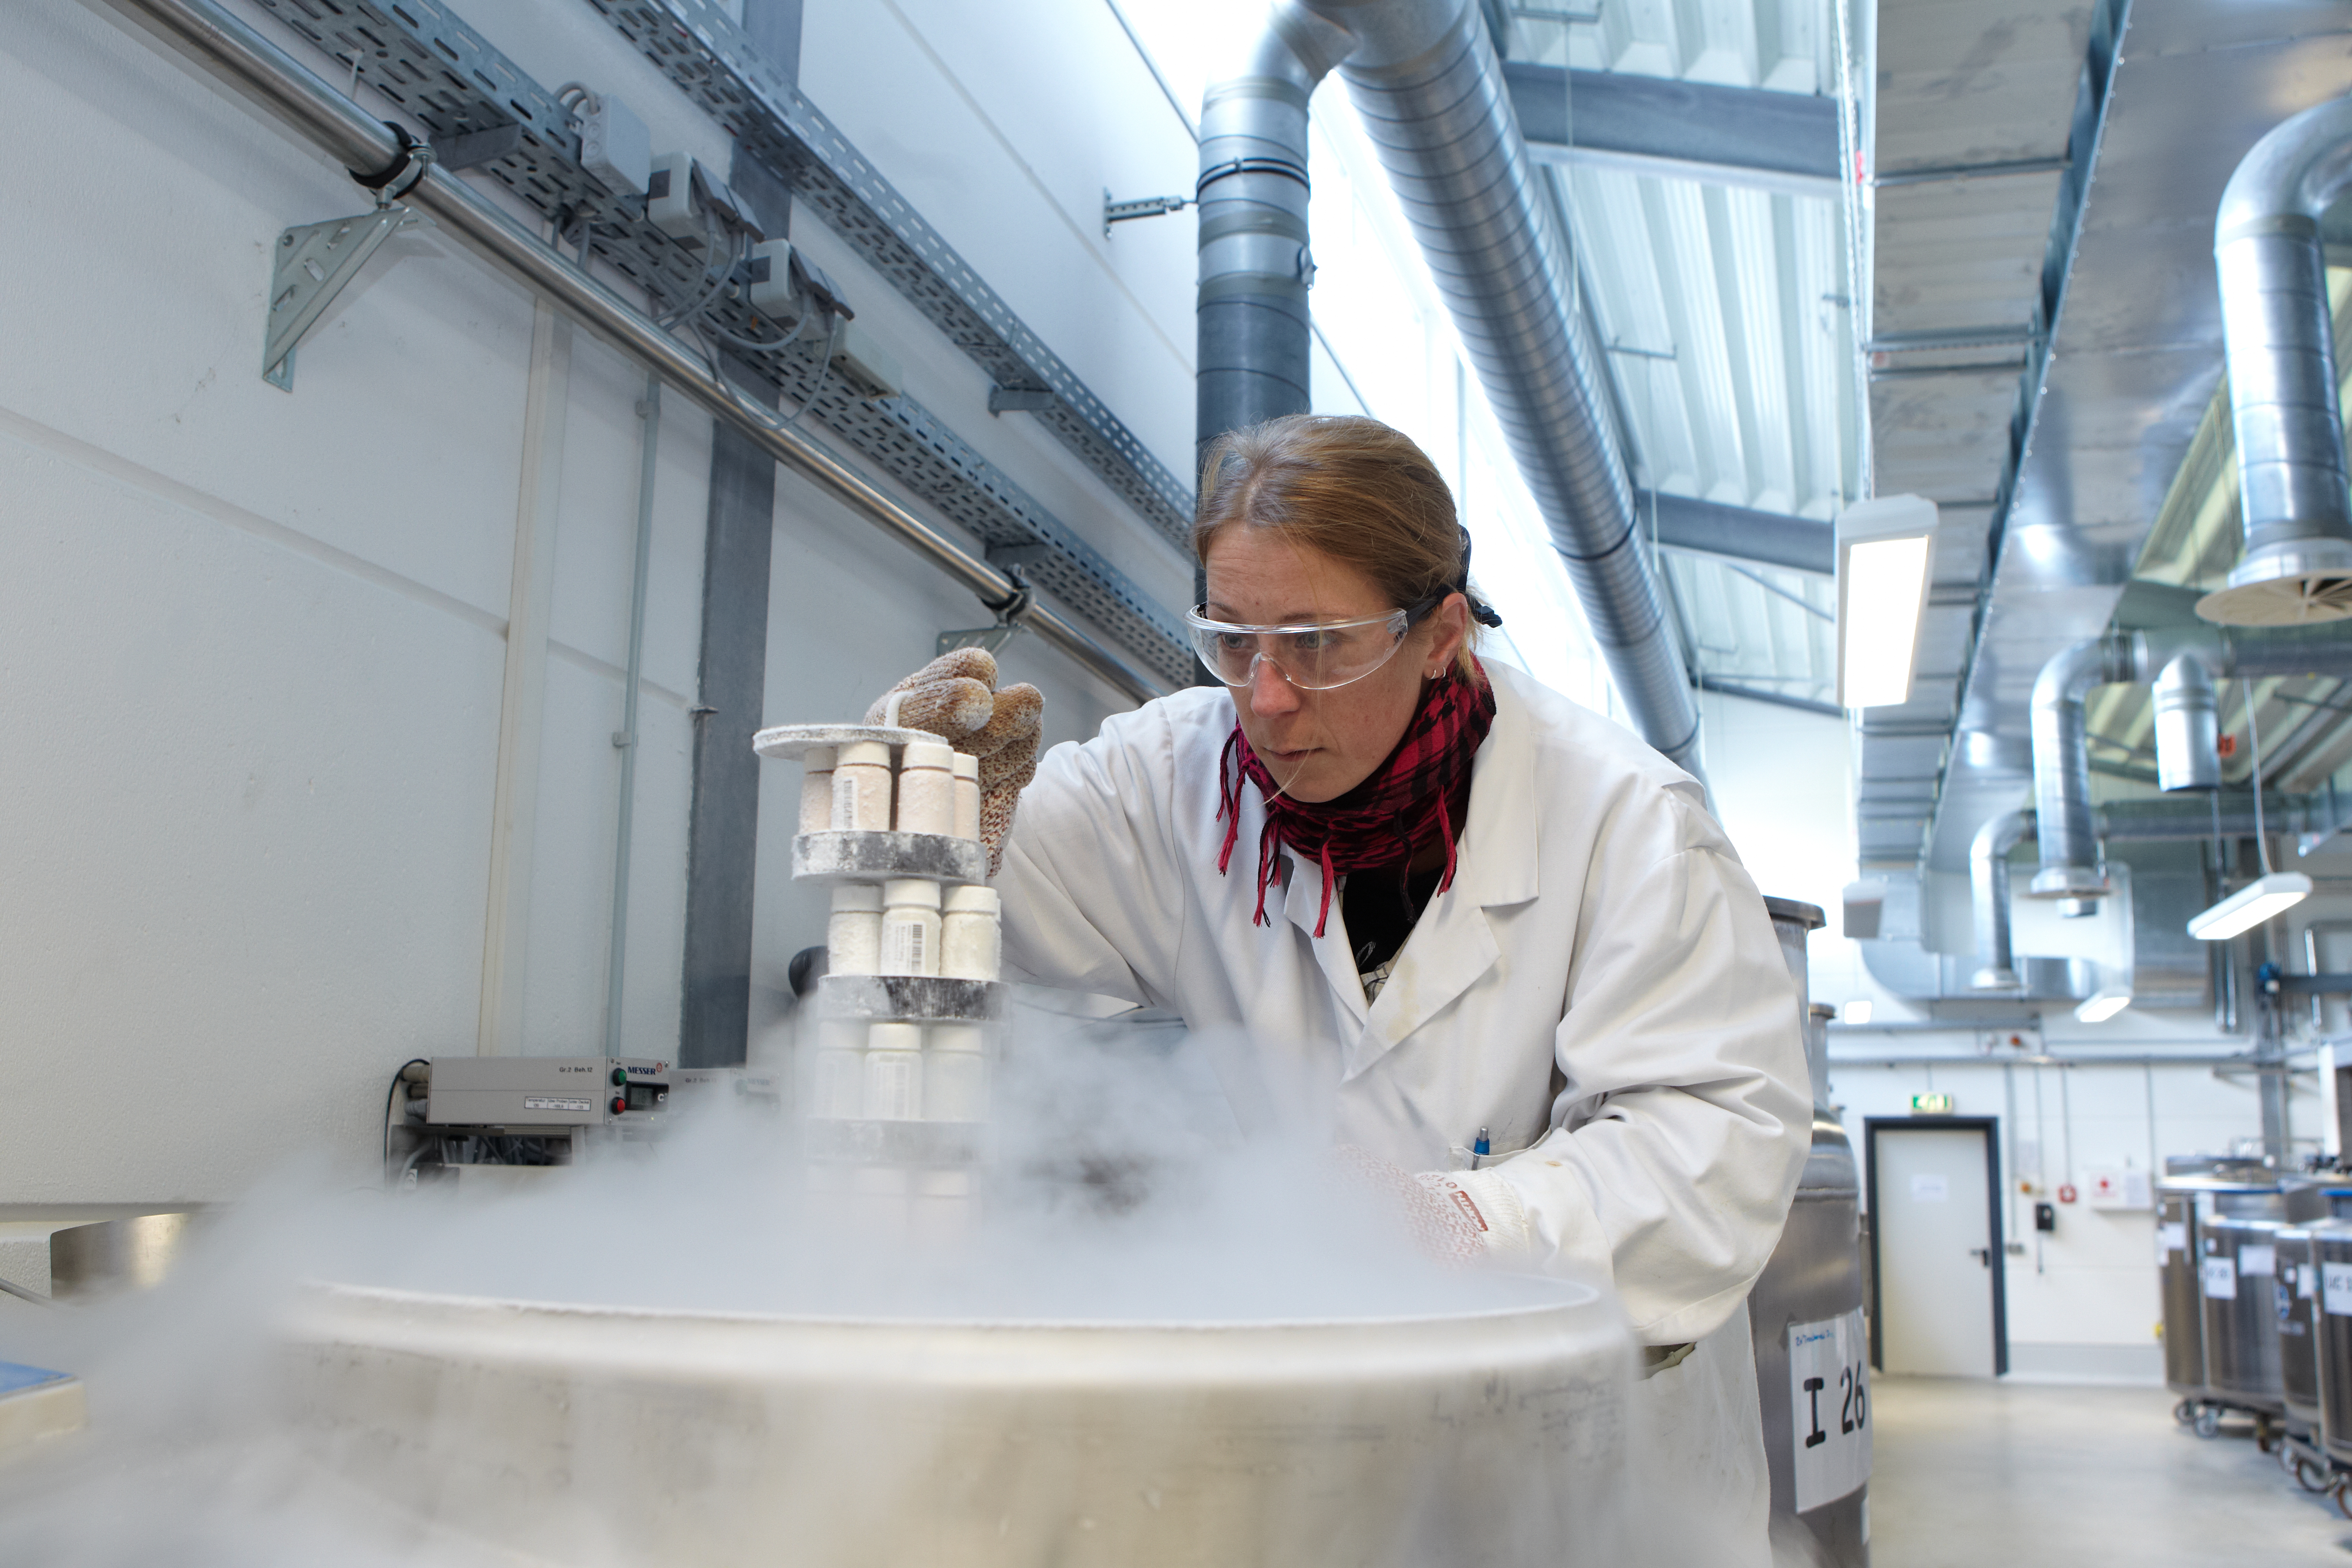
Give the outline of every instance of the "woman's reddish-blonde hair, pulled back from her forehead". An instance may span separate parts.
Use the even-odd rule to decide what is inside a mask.
[[[1397,607],[1470,592],[1470,548],[1437,463],[1402,430],[1352,414],[1284,414],[1228,430],[1200,468],[1192,555],[1235,527],[1277,529],[1289,543],[1355,567]],[[1472,595],[1475,602],[1475,595]],[[1454,670],[1475,682],[1472,618]]]

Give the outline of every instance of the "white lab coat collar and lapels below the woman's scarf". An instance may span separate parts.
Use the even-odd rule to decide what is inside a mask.
[[[1345,1077],[1357,1077],[1399,1046],[1414,1030],[1442,1013],[1494,969],[1501,947],[1486,922],[1486,910],[1526,903],[1536,896],[1536,745],[1524,698],[1512,689],[1510,672],[1494,679],[1494,726],[1470,762],[1470,823],[1463,830],[1463,853],[1454,886],[1437,893],[1397,954],[1388,985],[1374,1004],[1364,1004],[1364,983],[1348,950],[1338,896],[1331,898],[1331,924],[1315,940],[1315,917],[1322,910],[1322,865],[1284,851],[1284,917],[1315,945],[1334,1001],[1352,1018],[1355,1041],[1345,1053]]]

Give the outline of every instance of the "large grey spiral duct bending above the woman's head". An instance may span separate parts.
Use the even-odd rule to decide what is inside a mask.
[[[1642,555],[1623,440],[1545,200],[1472,0],[1289,0],[1202,106],[1200,435],[1303,411],[1305,101],[1331,68],[1569,562],[1642,738],[1698,771],[1698,705]]]

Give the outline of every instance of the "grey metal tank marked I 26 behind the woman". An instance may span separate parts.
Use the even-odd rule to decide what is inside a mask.
[[[1816,1013],[1804,994],[1804,943],[1809,931],[1820,929],[1823,914],[1788,898],[1766,898],[1764,907],[1797,978],[1813,1079],[1813,1150],[1780,1244],[1748,1295],[1771,1467],[1773,1559],[1867,1568],[1870,1352],[1858,1246],[1860,1168],[1830,1107],[1828,1009]],[[1816,1392],[1804,1394],[1806,1387]],[[1816,1408],[1832,1418],[1816,1425]]]

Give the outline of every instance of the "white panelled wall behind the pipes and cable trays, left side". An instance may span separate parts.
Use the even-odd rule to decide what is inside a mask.
[[[1033,9],[1028,33],[1105,47],[1087,33],[1101,7]],[[724,132],[590,7],[459,12],[543,85],[623,92],[656,143],[727,167]],[[1150,167],[1145,183],[1152,160],[1188,169],[1190,141],[1164,113],[1157,132],[1103,136],[1124,87],[1049,92],[1084,73],[1058,54],[1011,68],[960,28],[948,5],[811,7],[802,82],[1183,473],[1190,226],[1112,254],[1084,223],[1030,219],[1040,190],[1080,202],[1115,167],[1129,183],[1120,160],[1134,179]],[[1148,87],[1115,24],[1108,42]],[[0,127],[31,160],[0,226],[0,1204],[219,1199],[303,1147],[362,1178],[393,1067],[477,1044],[534,306],[447,240],[402,235],[280,393],[259,378],[268,256],[287,223],[365,207],[334,162],[71,0],[12,12]],[[1077,162],[1054,172],[1061,155]],[[1174,545],[1035,421],[993,418],[985,376],[807,212],[795,240],[910,393],[1145,590],[1183,599]],[[642,388],[574,334],[529,715],[513,1044],[534,1053],[595,1051],[604,1027]],[[677,1039],[708,468],[710,421],[673,393],[623,1004],[628,1048],[649,1056]],[[769,722],[863,712],[938,630],[985,618],[779,475]],[[1124,705],[1033,639],[1004,665],[1047,691],[1049,738]],[[795,795],[795,769],[767,773],[755,983],[774,990],[821,938],[781,870]]]

